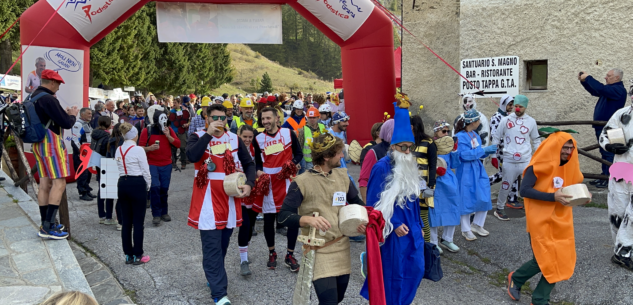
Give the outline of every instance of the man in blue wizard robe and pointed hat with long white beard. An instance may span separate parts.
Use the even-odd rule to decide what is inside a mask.
[[[369,285],[372,266],[361,289],[369,299],[369,290],[384,289],[387,304],[411,304],[424,275],[424,233],[420,219],[418,194],[420,175],[415,139],[409,120],[408,97],[396,95],[394,130],[390,151],[372,168],[367,185],[367,206],[382,212],[385,220],[384,244],[380,247],[384,287]],[[375,255],[371,252],[368,256]]]

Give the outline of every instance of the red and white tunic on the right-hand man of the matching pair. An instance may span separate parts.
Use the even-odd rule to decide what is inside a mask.
[[[274,136],[262,132],[255,138],[261,150],[264,173],[270,175],[270,191],[268,195],[264,196],[264,201],[261,205],[257,202],[253,204],[253,211],[255,212],[263,212],[264,214],[278,213],[286,198],[290,179],[279,180],[275,177],[275,174],[281,171],[284,163],[292,160],[292,138],[290,132],[288,128],[279,128]],[[266,149],[267,147],[270,148]],[[266,153],[267,151],[268,153]]]

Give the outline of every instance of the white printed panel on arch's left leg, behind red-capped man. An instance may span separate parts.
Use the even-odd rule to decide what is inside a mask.
[[[23,45],[22,50],[27,46]],[[63,109],[83,107],[84,51],[64,48],[31,46],[22,56],[22,99],[33,93],[41,83],[45,69],[54,70],[64,80],[55,94]],[[64,132],[64,141],[71,152],[70,130]]]

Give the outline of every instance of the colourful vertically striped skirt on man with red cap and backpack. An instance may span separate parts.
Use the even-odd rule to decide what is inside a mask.
[[[64,140],[62,136],[58,136],[50,129],[46,130],[46,137],[42,142],[33,144],[33,155],[40,177],[59,179],[70,176],[68,152]]]

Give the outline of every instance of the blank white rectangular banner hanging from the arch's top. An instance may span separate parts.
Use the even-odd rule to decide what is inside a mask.
[[[281,44],[278,4],[156,3],[158,41]]]

